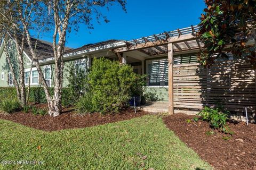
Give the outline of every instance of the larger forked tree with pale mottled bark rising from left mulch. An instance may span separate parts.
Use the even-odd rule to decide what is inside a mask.
[[[88,28],[92,29],[92,19],[100,22],[103,19],[108,22],[100,10],[102,7],[109,9],[111,5],[119,4],[125,11],[125,0],[42,0],[42,1],[10,1],[6,4],[8,10],[13,10],[15,18],[21,25],[20,31],[24,32],[26,41],[28,43],[31,55],[36,65],[39,81],[41,82],[48,107],[49,114],[57,116],[61,112],[61,89],[63,80],[63,52],[66,44],[67,32],[72,30],[77,31],[79,24],[86,24]],[[6,19],[9,16],[6,16]],[[11,23],[13,27],[15,25]],[[38,25],[44,27],[44,30],[53,30],[53,57],[54,57],[54,94],[51,96],[49,87],[43,76],[43,71],[39,65],[33,44],[31,42],[31,30],[34,30]],[[50,56],[49,56],[50,57]]]

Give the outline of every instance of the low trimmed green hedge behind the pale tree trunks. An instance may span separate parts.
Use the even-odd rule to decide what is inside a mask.
[[[26,88],[27,89],[27,88]],[[50,88],[50,93],[53,95],[53,88]],[[5,98],[17,98],[16,89],[13,87],[0,88],[0,101]],[[73,103],[69,94],[68,88],[62,88],[62,105],[68,106]],[[30,87],[29,101],[32,103],[47,103],[43,87]]]

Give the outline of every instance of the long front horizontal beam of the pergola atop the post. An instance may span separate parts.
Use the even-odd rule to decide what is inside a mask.
[[[150,48],[150,47],[155,47],[155,46],[163,46],[163,45],[167,45],[169,43],[180,43],[182,41],[188,41],[188,40],[195,40],[197,39],[196,36],[193,35],[181,35],[181,36],[175,36],[175,37],[170,37],[167,40],[158,40],[158,41],[149,41],[148,43],[140,43],[137,45],[133,45],[133,46],[128,46],[128,47],[121,47],[121,48],[117,48],[114,49],[114,51],[116,53],[121,53],[121,52],[128,52],[128,51],[132,51],[132,50],[138,50],[138,49],[143,49],[143,48]]]

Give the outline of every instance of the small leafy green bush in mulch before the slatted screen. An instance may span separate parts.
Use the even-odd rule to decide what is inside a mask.
[[[225,111],[221,106],[214,108],[206,106],[197,115],[201,117],[201,120],[209,122],[214,129],[219,129],[224,133],[234,133],[227,125],[229,111]]]

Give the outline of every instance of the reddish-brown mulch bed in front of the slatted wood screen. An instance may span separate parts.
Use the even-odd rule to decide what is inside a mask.
[[[231,139],[223,140],[223,134],[217,130],[206,135],[212,130],[209,123],[186,121],[193,117],[175,114],[163,120],[188,147],[216,169],[256,169],[256,124],[247,126],[244,122],[228,122],[235,134]]]

